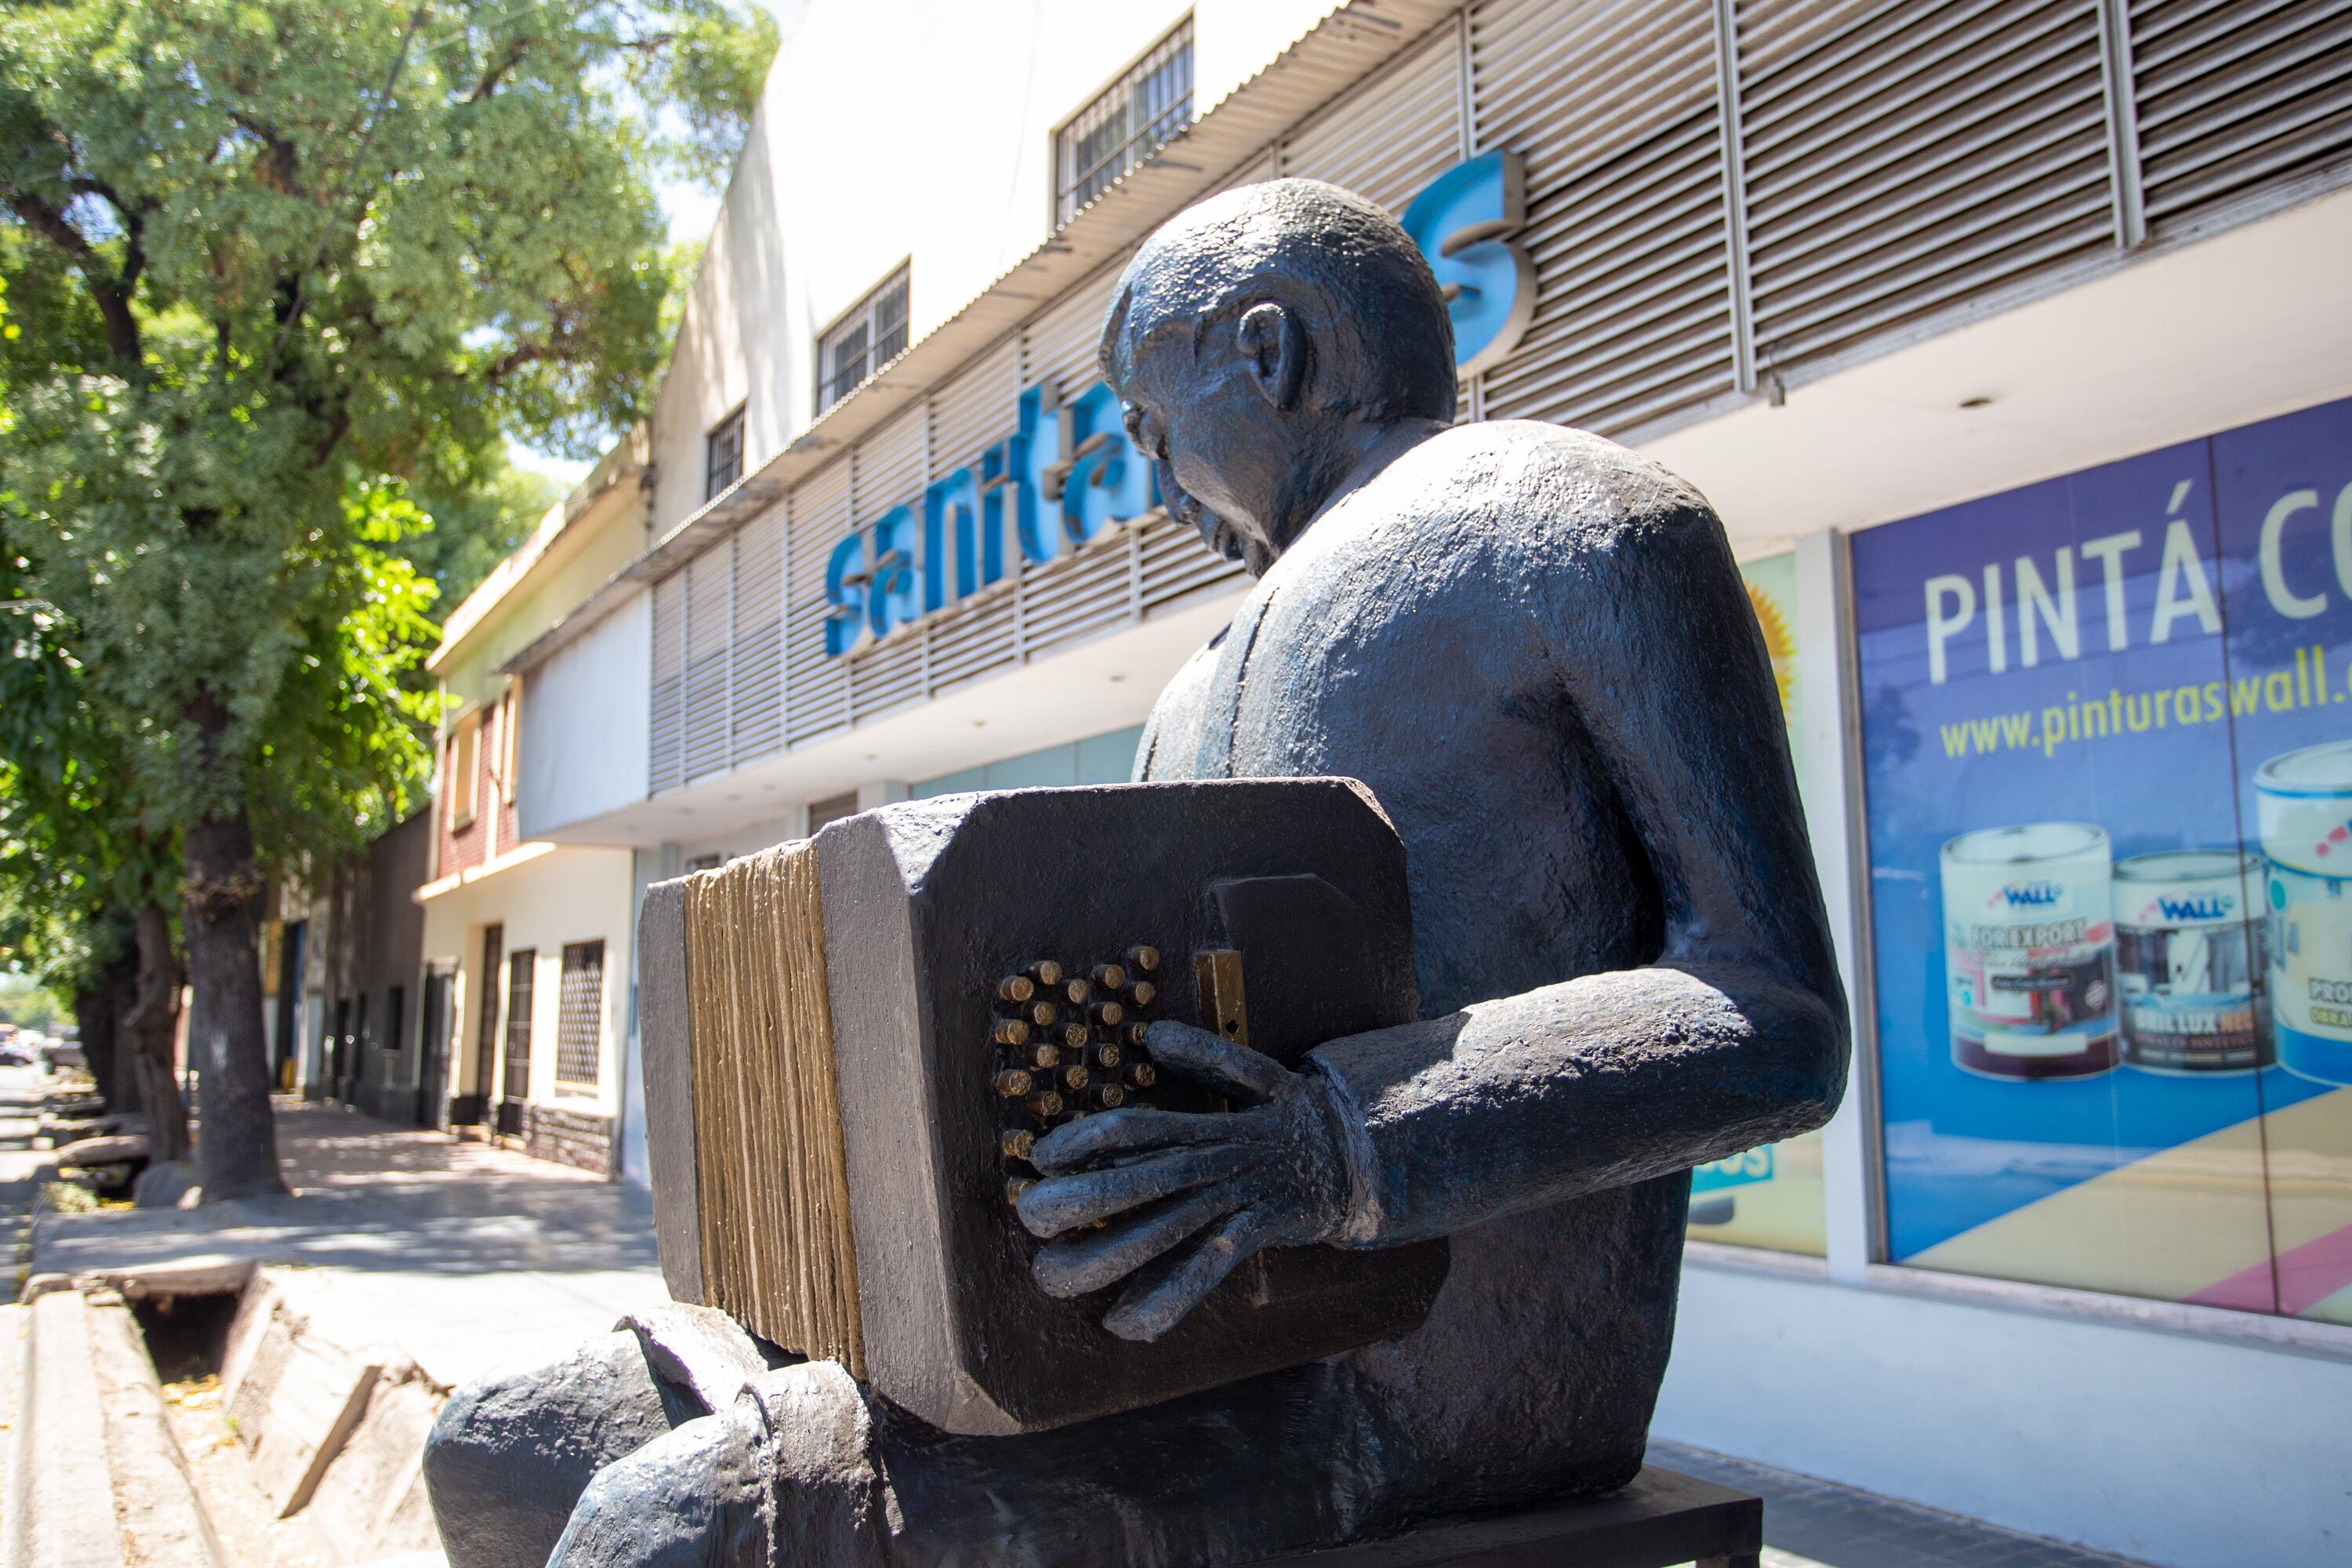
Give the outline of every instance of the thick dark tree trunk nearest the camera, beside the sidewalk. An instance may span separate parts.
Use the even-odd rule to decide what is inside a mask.
[[[270,1051],[261,1032],[261,931],[254,827],[238,804],[181,835],[188,867],[188,1065],[195,1067],[195,1175],[205,1201],[285,1192],[270,1112]]]

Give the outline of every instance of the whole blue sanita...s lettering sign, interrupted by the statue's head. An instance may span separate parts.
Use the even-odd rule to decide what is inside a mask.
[[[1536,315],[1536,263],[1510,240],[1524,221],[1517,153],[1454,165],[1404,209],[1404,233],[1446,292],[1454,364],[1465,376],[1517,348]],[[1004,581],[1018,562],[1042,567],[1155,505],[1152,465],[1127,440],[1108,383],[1068,402],[1033,386],[1011,435],[833,545],[826,656],[889,637]]]

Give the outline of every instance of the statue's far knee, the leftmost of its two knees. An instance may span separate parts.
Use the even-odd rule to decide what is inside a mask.
[[[581,1490],[701,1406],[609,1333],[459,1389],[426,1439],[426,1490],[452,1568],[543,1568]]]

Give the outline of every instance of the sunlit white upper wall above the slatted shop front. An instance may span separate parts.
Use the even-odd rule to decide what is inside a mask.
[[[1054,127],[1188,12],[1195,113],[1331,0],[811,0],[687,296],[654,407],[654,531],[703,503],[703,437],[743,404],[746,473],[814,418],[816,334],[910,263],[910,341],[1051,233]],[[818,150],[811,155],[811,150]]]

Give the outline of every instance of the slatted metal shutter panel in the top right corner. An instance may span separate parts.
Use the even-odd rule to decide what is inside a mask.
[[[2138,0],[2150,228],[2352,162],[2352,0]]]

